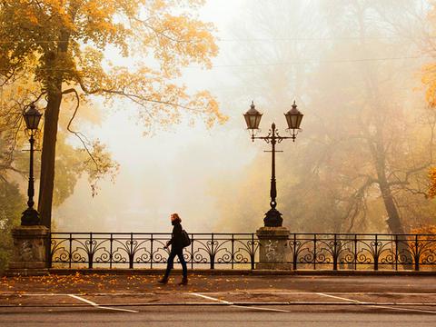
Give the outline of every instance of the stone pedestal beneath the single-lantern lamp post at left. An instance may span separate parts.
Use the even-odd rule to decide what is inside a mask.
[[[48,273],[46,251],[49,244],[49,229],[43,225],[19,226],[12,230],[14,250],[9,263],[10,273]]]

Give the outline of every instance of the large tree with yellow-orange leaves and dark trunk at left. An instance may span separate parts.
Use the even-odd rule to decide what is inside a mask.
[[[93,96],[130,100],[144,125],[176,123],[184,113],[203,115],[207,124],[223,122],[225,117],[211,94],[189,94],[185,85],[175,81],[183,66],[208,67],[217,54],[213,25],[193,14],[202,4],[202,0],[2,1],[1,83],[32,79],[37,92],[29,94],[28,102],[45,106],[38,211],[47,227],[51,225],[59,116],[65,101],[75,101],[66,129],[84,146],[86,141],[74,130],[73,119],[79,106]],[[131,64],[111,62],[107,53],[114,50]],[[86,146],[89,154],[98,152],[101,144],[91,147]],[[94,156],[92,160],[99,165]]]

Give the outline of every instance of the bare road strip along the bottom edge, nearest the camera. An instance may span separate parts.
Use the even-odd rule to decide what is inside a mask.
[[[265,306],[264,308],[268,308]],[[2,326],[434,326],[433,314],[385,309],[287,306],[259,311],[250,307],[129,307],[138,312],[94,308],[15,308],[2,312]]]

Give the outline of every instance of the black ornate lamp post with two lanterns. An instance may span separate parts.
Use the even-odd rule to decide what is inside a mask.
[[[265,227],[281,227],[282,226],[282,213],[280,213],[275,207],[277,202],[275,201],[277,197],[277,188],[275,185],[275,144],[280,144],[284,139],[292,139],[295,142],[298,132],[300,131],[300,124],[302,123],[302,113],[297,109],[297,104],[295,101],[292,104],[292,109],[284,114],[286,117],[286,122],[288,123],[288,131],[291,136],[280,136],[275,124],[272,123],[270,132],[266,136],[255,136],[255,131],[259,129],[259,124],[261,123],[262,114],[259,113],[254,104],[252,103],[250,110],[243,114],[245,118],[245,123],[247,124],[247,129],[251,131],[252,140],[261,139],[267,144],[272,145],[272,172],[271,172],[271,209],[265,214],[263,223]]]

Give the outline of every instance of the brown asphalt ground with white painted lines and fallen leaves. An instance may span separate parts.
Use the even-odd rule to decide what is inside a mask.
[[[3,279],[0,326],[436,326],[432,276],[74,278]]]

